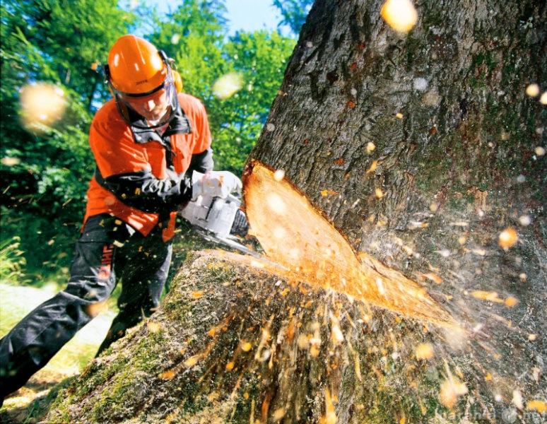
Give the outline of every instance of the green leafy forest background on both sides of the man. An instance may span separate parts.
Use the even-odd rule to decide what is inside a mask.
[[[295,43],[265,31],[230,39],[224,0],[180,3],[163,18],[143,4],[127,9],[110,0],[1,3],[1,240],[11,246],[20,237],[20,280],[40,284],[67,273],[95,168],[88,129],[110,98],[100,69],[121,35],[142,35],[175,60],[184,90],[208,110],[216,169],[242,172]],[[230,72],[242,89],[220,100],[213,85]],[[41,112],[30,119],[22,93],[42,84],[59,103],[51,93],[38,97]],[[60,119],[40,117],[56,107],[64,108]]]

